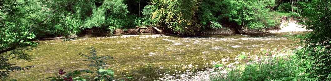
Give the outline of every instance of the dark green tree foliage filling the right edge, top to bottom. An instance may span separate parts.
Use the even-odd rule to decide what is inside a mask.
[[[302,15],[309,20],[302,22],[312,30],[303,38],[306,43],[297,52],[302,60],[309,60],[306,80],[331,80],[331,2],[328,0],[312,0],[303,4]]]

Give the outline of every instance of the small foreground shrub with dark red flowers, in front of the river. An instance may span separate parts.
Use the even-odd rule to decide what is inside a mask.
[[[72,72],[65,72],[60,69],[55,77],[48,77],[43,80],[49,79],[51,81],[86,81],[90,80],[90,75],[82,75],[81,72],[96,73],[94,76],[95,81],[112,81],[114,80],[114,71],[111,69],[105,69],[105,60],[111,59],[109,56],[97,56],[97,51],[94,47],[89,48],[91,50],[90,55],[78,54],[79,56],[87,57],[83,61],[89,61],[90,67],[94,67],[93,70],[75,70]],[[112,58],[113,59],[113,58]],[[66,74],[67,73],[67,74]],[[84,77],[84,78],[83,78]]]

